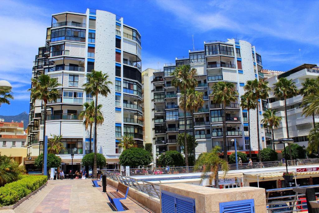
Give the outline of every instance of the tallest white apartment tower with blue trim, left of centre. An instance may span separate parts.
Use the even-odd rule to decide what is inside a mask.
[[[104,123],[98,126],[97,151],[107,158],[107,168],[118,166],[121,151],[117,145],[122,135],[132,136],[138,147],[143,146],[141,36],[137,29],[108,11],[53,14],[45,45],[35,57],[33,78],[45,74],[62,84],[58,88],[61,98],[48,103],[46,134],[63,136],[66,149],[59,155],[65,171],[70,169],[72,152],[75,170],[83,170],[81,159],[89,153],[89,130],[78,114],[84,102],[94,99],[83,90],[85,75],[93,69],[108,73],[113,82],[107,97],[98,96]],[[43,151],[41,100],[30,100],[29,120],[28,156],[38,156]]]

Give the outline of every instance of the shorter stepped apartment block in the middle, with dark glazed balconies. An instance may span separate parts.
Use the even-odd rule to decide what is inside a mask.
[[[197,69],[198,86],[196,90],[204,93],[204,106],[194,112],[195,126],[192,126],[190,113],[184,121],[183,111],[179,108],[180,91],[172,85],[171,73],[177,66],[190,65]],[[203,49],[191,49],[189,55],[176,57],[174,63],[165,64],[163,69],[153,70],[152,75],[144,78],[144,88],[150,87],[152,117],[152,132],[145,131],[148,140],[154,144],[154,160],[163,150],[178,150],[176,138],[184,131],[192,134],[195,128],[195,138],[198,142],[196,155],[210,151],[215,145],[223,148],[223,119],[221,104],[214,103],[211,98],[211,87],[219,81],[232,82],[239,92],[237,101],[226,106],[227,150],[230,155],[234,152],[232,139],[236,138],[237,148],[249,153],[247,110],[240,107],[240,96],[244,94],[243,86],[247,80],[262,79],[262,60],[256,53],[255,46],[242,40],[228,39],[222,41],[206,41]],[[146,79],[149,79],[148,81]],[[145,94],[144,94],[145,95]],[[262,111],[267,109],[267,102],[260,100],[259,124]],[[251,148],[254,156],[258,152],[256,110],[250,110]],[[146,124],[146,121],[145,121]],[[146,125],[145,125],[146,126]],[[258,127],[259,128],[259,127]],[[145,137],[146,138],[146,137]],[[260,126],[260,143],[265,147],[265,134]]]

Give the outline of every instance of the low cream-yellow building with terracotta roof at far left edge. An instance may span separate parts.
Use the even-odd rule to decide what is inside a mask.
[[[18,164],[26,158],[26,133],[21,122],[0,121],[0,154],[11,156]]]

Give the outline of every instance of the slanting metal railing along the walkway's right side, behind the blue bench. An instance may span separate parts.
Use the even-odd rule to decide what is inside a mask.
[[[140,170],[141,173],[147,173],[146,170]],[[106,170],[101,170],[101,172],[106,175],[107,178],[112,179],[116,182],[120,182],[125,186],[129,186],[134,188],[135,190],[142,192],[143,194],[147,194],[149,198],[153,199],[156,202],[159,202],[160,199],[160,191],[159,184],[147,182],[144,180],[134,179],[131,177],[123,176],[120,173],[124,174],[125,171],[120,171],[120,173],[112,173]],[[123,173],[124,172],[124,173]]]

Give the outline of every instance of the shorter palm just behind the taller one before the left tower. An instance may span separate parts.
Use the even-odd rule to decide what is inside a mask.
[[[92,147],[92,127],[94,123],[94,109],[95,109],[95,104],[94,101],[91,101],[90,103],[85,102],[83,104],[83,107],[85,107],[85,110],[81,111],[79,114],[79,119],[84,119],[83,125],[85,126],[85,130],[88,129],[88,126],[90,125],[90,148],[89,148],[89,153],[91,153],[91,147]],[[97,110],[97,122],[98,125],[102,125],[104,122],[103,114],[101,112],[102,104],[98,105],[98,110]]]

